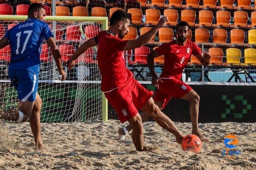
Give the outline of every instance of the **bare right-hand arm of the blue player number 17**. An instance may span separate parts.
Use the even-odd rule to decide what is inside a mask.
[[[53,58],[55,60],[56,66],[58,68],[58,72],[59,74],[61,74],[61,81],[66,79],[66,73],[62,68],[62,64],[61,64],[61,53],[54,41],[54,39],[52,37],[48,38],[46,40],[46,43],[49,45],[51,51],[52,51],[52,55]]]

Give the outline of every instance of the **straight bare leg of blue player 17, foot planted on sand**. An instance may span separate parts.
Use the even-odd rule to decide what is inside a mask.
[[[42,108],[42,100],[39,94],[36,94],[36,100],[33,106],[32,113],[29,117],[30,127],[35,140],[35,148],[36,150],[43,149],[43,142],[41,139],[41,126],[40,126],[40,113]]]

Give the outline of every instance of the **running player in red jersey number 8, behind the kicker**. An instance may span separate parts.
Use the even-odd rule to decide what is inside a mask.
[[[190,101],[190,117],[192,122],[192,134],[200,137],[202,141],[208,141],[198,128],[199,100],[198,94],[186,83],[180,81],[191,55],[195,55],[202,65],[207,66],[210,62],[210,55],[205,52],[203,55],[200,48],[191,40],[187,40],[189,35],[189,24],[181,21],[176,26],[178,38],[169,43],[164,43],[150,54],[148,54],[148,68],[152,74],[152,85],[158,90],[154,96],[155,104],[162,110],[171,98],[181,98]],[[158,78],[154,70],[154,58],[164,55],[163,72]],[[148,119],[148,115],[141,114],[143,121]],[[131,125],[119,129],[120,139],[124,139],[126,134],[132,130]]]

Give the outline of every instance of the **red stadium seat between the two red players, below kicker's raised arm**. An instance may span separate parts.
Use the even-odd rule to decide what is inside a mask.
[[[135,49],[135,63],[147,64],[147,55],[150,53],[150,48],[142,46]]]

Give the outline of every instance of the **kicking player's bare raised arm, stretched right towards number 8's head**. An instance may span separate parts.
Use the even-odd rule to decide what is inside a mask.
[[[165,25],[165,22],[168,22],[168,17],[163,16],[158,24],[154,26],[149,32],[146,32],[142,36],[139,36],[136,40],[128,40],[126,43],[126,46],[124,47],[124,51],[130,50],[130,49],[136,49],[138,47],[141,47],[145,44],[147,44],[153,36],[156,34],[156,32]]]

